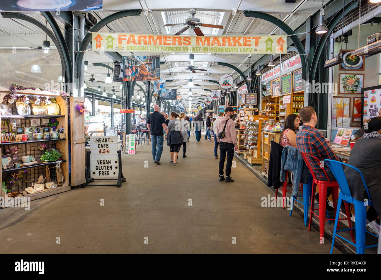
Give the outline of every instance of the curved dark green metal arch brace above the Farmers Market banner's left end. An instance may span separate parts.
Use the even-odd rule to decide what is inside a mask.
[[[85,37],[82,40],[81,45],[78,48],[77,57],[75,58],[75,77],[78,78],[78,70],[79,70],[79,63],[83,60],[84,51],[86,50],[86,46],[91,42],[91,33],[90,32],[98,32],[102,27],[106,26],[112,21],[115,21],[120,18],[125,18],[127,16],[138,16],[141,14],[142,10],[125,10],[125,11],[118,11],[114,14],[110,14],[109,16],[106,16],[106,18],[99,21],[97,24],[93,26],[93,28],[90,29],[89,32],[85,35]]]

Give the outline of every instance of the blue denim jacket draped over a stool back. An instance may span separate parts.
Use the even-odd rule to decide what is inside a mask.
[[[280,162],[280,178],[284,182],[287,180],[286,171],[292,172],[294,181],[293,195],[298,195],[299,184],[308,184],[309,170],[303,160],[302,154],[298,149],[292,146],[285,146],[282,152],[282,161]]]

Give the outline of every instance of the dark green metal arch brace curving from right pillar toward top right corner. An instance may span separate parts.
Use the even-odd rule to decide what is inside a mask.
[[[354,8],[356,8],[358,4],[359,4],[358,2],[354,2],[351,5],[348,5],[346,8],[344,8],[344,15],[346,15],[347,13],[352,11]],[[339,23],[342,17],[343,17],[343,12],[342,10],[340,10],[335,14],[335,16],[331,19],[330,23],[328,24],[328,32],[324,34],[322,37],[320,37],[319,43],[316,46],[314,57],[312,58],[312,61],[311,61],[311,69],[310,69],[309,77],[311,77],[312,80],[314,80],[315,78],[317,66],[318,66],[317,62],[320,59],[325,42],[327,42],[328,35],[332,33],[333,29]]]

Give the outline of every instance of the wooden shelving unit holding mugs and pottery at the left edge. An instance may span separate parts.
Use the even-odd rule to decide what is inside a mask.
[[[9,105],[12,109],[12,115],[1,115],[1,120],[10,120],[10,119],[18,119],[20,120],[21,127],[31,127],[30,122],[31,118],[54,118],[56,121],[59,122],[59,125],[57,126],[57,129],[60,128],[60,126],[63,126],[64,132],[66,136],[69,134],[69,127],[68,127],[68,116],[67,116],[67,100],[63,99],[61,95],[56,93],[50,93],[47,91],[44,91],[43,93],[40,92],[40,90],[24,90],[24,91],[18,91],[17,95],[28,95],[28,96],[40,96],[41,104],[40,106],[43,106],[43,100],[45,100],[46,97],[54,97],[56,99],[56,103],[59,105],[60,108],[60,114],[59,115],[17,115],[15,104],[9,104],[7,101],[3,102],[4,97],[9,94],[8,89],[1,87],[0,88],[0,103]],[[32,104],[29,103],[29,106],[32,109]],[[48,128],[47,124],[41,124],[38,126],[41,129],[42,128]],[[2,125],[3,131],[9,130],[9,127],[7,125]],[[0,173],[0,180],[6,181],[7,178],[10,178],[11,173],[14,173],[18,170],[27,170],[24,174],[24,178],[22,178],[20,184],[15,184],[14,190],[19,191],[19,195],[21,196],[22,191],[26,187],[31,187],[32,183],[36,183],[36,178],[38,178],[40,175],[43,175],[43,177],[46,177],[46,166],[50,166],[51,168],[56,167],[56,163],[59,162],[60,168],[63,174],[64,181],[61,183],[61,185],[58,185],[58,187],[54,189],[44,189],[42,192],[36,192],[34,194],[27,194],[23,195],[25,198],[30,198],[30,200],[35,200],[37,198],[46,197],[53,194],[58,194],[60,192],[65,192],[67,190],[70,190],[69,185],[69,144],[67,138],[56,138],[56,139],[35,139],[35,140],[28,140],[28,141],[10,141],[10,142],[2,142],[1,148],[2,148],[2,154],[6,154],[6,149],[9,149],[12,146],[16,146],[18,148],[18,154],[17,154],[17,160],[14,159],[14,163],[22,163],[21,157],[24,155],[30,155],[35,158],[36,161],[40,160],[40,157],[45,153],[45,150],[38,149],[39,143],[44,143],[48,148],[56,147],[60,150],[62,153],[61,160],[55,161],[55,162],[46,162],[46,163],[40,163],[32,166],[27,167],[19,167],[19,168],[6,168],[4,169],[2,167],[2,172]],[[12,156],[13,157],[13,156]],[[56,178],[58,174],[53,171],[53,178]],[[50,174],[52,176],[52,173]],[[57,181],[56,181],[57,182]],[[1,197],[6,197],[8,200],[12,200],[13,198],[8,197],[4,190],[1,190]],[[19,198],[19,197],[16,197]],[[13,200],[14,204],[21,203],[20,200]],[[2,205],[4,207],[4,205]]]

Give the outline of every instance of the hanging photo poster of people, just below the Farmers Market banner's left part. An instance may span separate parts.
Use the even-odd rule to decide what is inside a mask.
[[[123,56],[123,81],[155,80],[160,80],[160,56]]]

